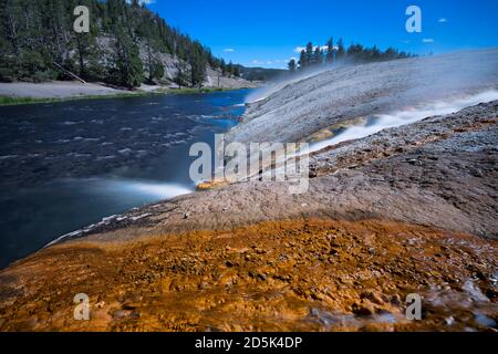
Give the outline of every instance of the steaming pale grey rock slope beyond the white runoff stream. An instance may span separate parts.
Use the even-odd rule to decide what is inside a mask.
[[[377,117],[376,127],[347,132],[352,137],[364,136],[477,104],[497,90],[498,49],[332,65],[274,82],[250,95],[245,123],[230,131],[228,140],[307,142],[334,125]]]

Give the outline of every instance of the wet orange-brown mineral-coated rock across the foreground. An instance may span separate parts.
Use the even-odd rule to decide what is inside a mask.
[[[497,241],[365,220],[59,244],[1,274],[2,331],[492,330]],[[64,269],[65,271],[61,271]],[[73,319],[76,293],[91,320]],[[407,294],[423,296],[408,321]]]

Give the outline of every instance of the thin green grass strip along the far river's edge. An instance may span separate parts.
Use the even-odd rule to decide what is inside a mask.
[[[69,96],[69,97],[12,97],[12,96],[0,96],[0,106],[14,106],[24,104],[40,104],[40,103],[58,103],[68,101],[81,101],[81,100],[106,100],[106,98],[128,98],[128,97],[141,97],[141,96],[152,96],[152,95],[166,95],[166,94],[198,94],[198,93],[211,93],[211,92],[222,92],[222,91],[236,91],[242,88],[219,88],[219,87],[205,87],[205,88],[158,88],[151,92],[145,91],[134,91],[134,92],[123,92],[123,93],[112,93],[103,95],[80,95],[80,96]]]

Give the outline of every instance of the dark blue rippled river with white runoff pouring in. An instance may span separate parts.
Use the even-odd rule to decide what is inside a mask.
[[[58,237],[194,189],[190,145],[249,91],[0,107],[0,268]]]

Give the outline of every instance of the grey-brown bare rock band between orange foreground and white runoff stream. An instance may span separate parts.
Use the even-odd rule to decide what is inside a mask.
[[[325,148],[311,157],[312,178],[302,195],[289,192],[291,183],[240,183],[137,209],[80,236],[105,242],[149,230],[320,217],[378,218],[496,238],[497,112],[498,102],[480,104]]]

